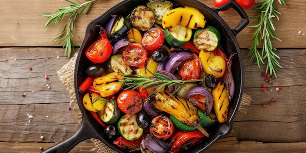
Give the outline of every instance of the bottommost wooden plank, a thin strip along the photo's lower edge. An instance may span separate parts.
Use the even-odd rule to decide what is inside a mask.
[[[47,149],[56,143],[7,143],[0,142],[0,149],[5,149],[9,153],[40,153],[40,147]],[[92,153],[95,148],[93,143],[81,142],[69,153]],[[306,143],[262,143],[256,141],[240,141],[236,144],[220,145],[218,143],[211,146],[204,153],[305,153]],[[8,153],[8,152],[2,152]]]

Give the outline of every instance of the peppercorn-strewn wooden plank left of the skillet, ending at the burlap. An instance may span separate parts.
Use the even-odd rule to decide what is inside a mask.
[[[70,95],[57,73],[69,61],[63,54],[61,48],[0,48],[0,91],[5,93],[1,105],[69,103]]]

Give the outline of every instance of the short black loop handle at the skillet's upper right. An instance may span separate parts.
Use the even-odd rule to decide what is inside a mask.
[[[219,11],[225,11],[230,8],[234,8],[241,17],[241,21],[239,22],[239,24],[236,26],[235,29],[232,29],[234,35],[236,36],[249,23],[249,18],[244,12],[243,8],[235,0],[231,0],[222,6],[213,8],[213,10],[219,13]]]

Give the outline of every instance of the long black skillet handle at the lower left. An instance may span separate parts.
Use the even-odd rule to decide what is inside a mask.
[[[51,148],[45,150],[42,153],[68,153],[80,142],[86,139],[93,138],[93,136],[91,135],[92,131],[87,128],[88,126],[86,124],[87,122],[82,121],[82,124],[78,129],[78,131],[76,131],[76,133],[74,133],[71,137],[69,137],[65,141],[52,146]]]

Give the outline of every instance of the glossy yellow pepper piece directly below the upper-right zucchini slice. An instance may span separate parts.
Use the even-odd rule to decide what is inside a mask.
[[[205,74],[211,74],[216,78],[223,76],[225,72],[226,63],[223,57],[215,55],[211,51],[200,51],[198,55],[202,69]]]

